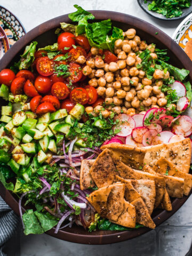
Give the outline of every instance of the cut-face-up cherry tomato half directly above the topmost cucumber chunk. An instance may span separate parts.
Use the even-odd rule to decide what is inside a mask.
[[[74,103],[85,105],[89,101],[89,95],[84,88],[77,87],[71,91],[70,100]]]

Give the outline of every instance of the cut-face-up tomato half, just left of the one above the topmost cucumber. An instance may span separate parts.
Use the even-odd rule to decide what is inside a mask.
[[[69,89],[65,83],[57,82],[52,85],[51,94],[59,100],[64,100],[69,95]]]

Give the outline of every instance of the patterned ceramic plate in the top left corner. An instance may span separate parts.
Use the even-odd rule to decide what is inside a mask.
[[[0,5],[0,26],[4,29],[9,40],[10,47],[26,34],[25,28],[17,17]]]

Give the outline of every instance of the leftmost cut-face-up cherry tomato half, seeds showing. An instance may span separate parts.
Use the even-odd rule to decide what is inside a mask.
[[[40,75],[51,76],[54,72],[54,63],[48,57],[41,57],[37,60],[36,68]]]

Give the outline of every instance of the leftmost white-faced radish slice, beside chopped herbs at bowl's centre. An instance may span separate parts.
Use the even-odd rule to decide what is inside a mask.
[[[117,133],[117,135],[120,137],[126,137],[130,135],[135,127],[133,118],[126,114],[120,114],[116,117],[116,119],[118,119],[120,122],[118,129],[121,130]]]

